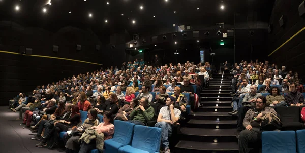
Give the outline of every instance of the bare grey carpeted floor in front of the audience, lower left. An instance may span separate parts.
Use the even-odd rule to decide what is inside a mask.
[[[49,152],[65,152],[63,149],[49,150],[47,146],[43,148],[36,147],[38,140],[30,138],[36,134],[28,129],[22,129],[19,125],[22,120],[16,121],[19,112],[16,113],[8,109],[8,106],[0,107],[0,152],[26,152],[26,153],[49,153]]]

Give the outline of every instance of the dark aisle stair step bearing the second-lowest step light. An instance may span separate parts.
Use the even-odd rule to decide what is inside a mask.
[[[218,126],[218,127],[216,127],[216,126]],[[191,119],[187,123],[187,127],[189,127],[189,128],[233,129],[233,128],[236,128],[236,126],[237,126],[237,121],[236,120],[214,121],[214,120]]]

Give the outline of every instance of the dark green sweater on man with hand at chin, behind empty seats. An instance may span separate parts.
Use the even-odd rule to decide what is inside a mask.
[[[148,121],[152,121],[154,119],[154,114],[154,108],[151,106],[147,106],[145,108],[145,111],[142,111],[140,108],[138,110],[134,109],[130,114],[130,118],[133,121],[138,120],[146,124]]]

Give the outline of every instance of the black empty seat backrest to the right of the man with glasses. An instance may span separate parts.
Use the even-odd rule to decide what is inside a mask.
[[[282,123],[299,122],[300,121],[300,110],[299,107],[292,106],[279,106],[276,107],[276,111],[280,116]]]

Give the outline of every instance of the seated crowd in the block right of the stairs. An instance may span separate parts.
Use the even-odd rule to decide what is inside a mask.
[[[277,115],[278,106],[304,105],[303,81],[297,72],[287,71],[268,61],[241,61],[231,70],[232,107],[229,114],[237,117],[239,152],[246,152],[248,142],[257,142],[261,136],[260,119],[266,113]],[[268,93],[267,96],[263,94]]]

